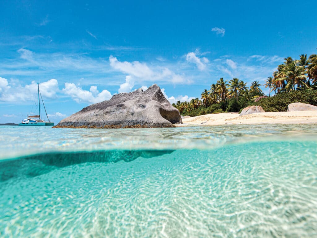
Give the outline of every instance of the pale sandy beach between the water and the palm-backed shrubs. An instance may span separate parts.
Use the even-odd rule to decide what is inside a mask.
[[[238,112],[207,114],[184,118],[183,124],[188,125],[230,125],[230,124],[298,124],[298,123],[317,123],[317,111],[295,111],[295,112],[263,112],[239,116]]]

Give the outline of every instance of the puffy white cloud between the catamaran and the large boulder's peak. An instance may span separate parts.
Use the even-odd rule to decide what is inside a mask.
[[[97,103],[109,100],[112,97],[108,90],[102,90],[99,93],[96,86],[91,86],[90,91],[87,91],[77,87],[74,83],[65,83],[65,88],[63,88],[62,91],[78,103]]]

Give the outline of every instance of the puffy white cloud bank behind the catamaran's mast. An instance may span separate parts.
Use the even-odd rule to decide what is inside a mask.
[[[13,80],[11,85],[8,83],[7,79],[0,77],[0,101],[33,101],[34,95],[37,95],[37,83],[35,83],[35,81],[32,81],[31,84],[23,87]],[[46,98],[56,98],[56,93],[59,91],[56,79],[50,79],[46,82],[40,83],[39,87],[42,97]]]

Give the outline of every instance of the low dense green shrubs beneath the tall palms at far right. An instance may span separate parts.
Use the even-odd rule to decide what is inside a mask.
[[[282,92],[275,96],[262,98],[258,102],[249,101],[247,106],[261,106],[266,112],[287,111],[290,103],[302,102],[317,106],[317,90]]]

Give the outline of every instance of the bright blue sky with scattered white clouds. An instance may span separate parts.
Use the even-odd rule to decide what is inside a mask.
[[[65,2],[0,2],[0,123],[34,110],[37,82],[59,122],[154,83],[170,102],[220,77],[263,84],[317,52],[316,1]]]

